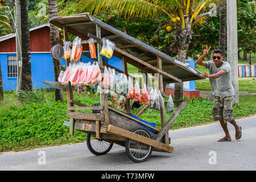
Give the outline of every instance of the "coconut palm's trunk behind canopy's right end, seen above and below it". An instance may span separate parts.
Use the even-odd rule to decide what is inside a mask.
[[[177,60],[185,63],[187,51],[178,51]],[[183,82],[176,82],[174,84],[174,106],[178,107],[183,100]]]

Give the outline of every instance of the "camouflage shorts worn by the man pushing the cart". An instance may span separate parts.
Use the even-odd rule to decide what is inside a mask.
[[[233,119],[234,96],[218,97],[213,96],[212,119],[213,121],[230,122]]]

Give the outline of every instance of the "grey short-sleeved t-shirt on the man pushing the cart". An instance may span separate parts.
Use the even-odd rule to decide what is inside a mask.
[[[222,61],[220,67],[216,67],[213,60],[205,62],[205,67],[209,69],[210,75],[224,70],[226,73],[218,78],[210,78],[210,86],[212,86],[213,96],[228,97],[234,96],[234,88],[231,81],[231,68],[228,62]]]

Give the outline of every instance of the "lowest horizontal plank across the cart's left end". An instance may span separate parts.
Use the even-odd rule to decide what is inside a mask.
[[[74,119],[82,119],[82,120],[98,120],[98,121],[104,121],[104,114],[96,114],[96,113],[75,113],[75,112],[68,112],[67,113],[68,118],[74,118]]]

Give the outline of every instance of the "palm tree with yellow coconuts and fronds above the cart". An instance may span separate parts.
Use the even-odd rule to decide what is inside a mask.
[[[169,47],[176,59],[185,62],[187,49],[192,38],[192,27],[204,22],[209,3],[222,0],[81,0],[81,12],[100,14],[106,10],[117,10],[127,19],[132,15],[140,18],[158,18],[167,15],[168,24],[174,29],[174,41]],[[166,25],[165,25],[166,26]],[[183,98],[183,82],[175,83],[174,100]],[[180,103],[180,102],[179,102]],[[179,103],[177,105],[179,105]],[[177,106],[176,105],[176,106]]]

